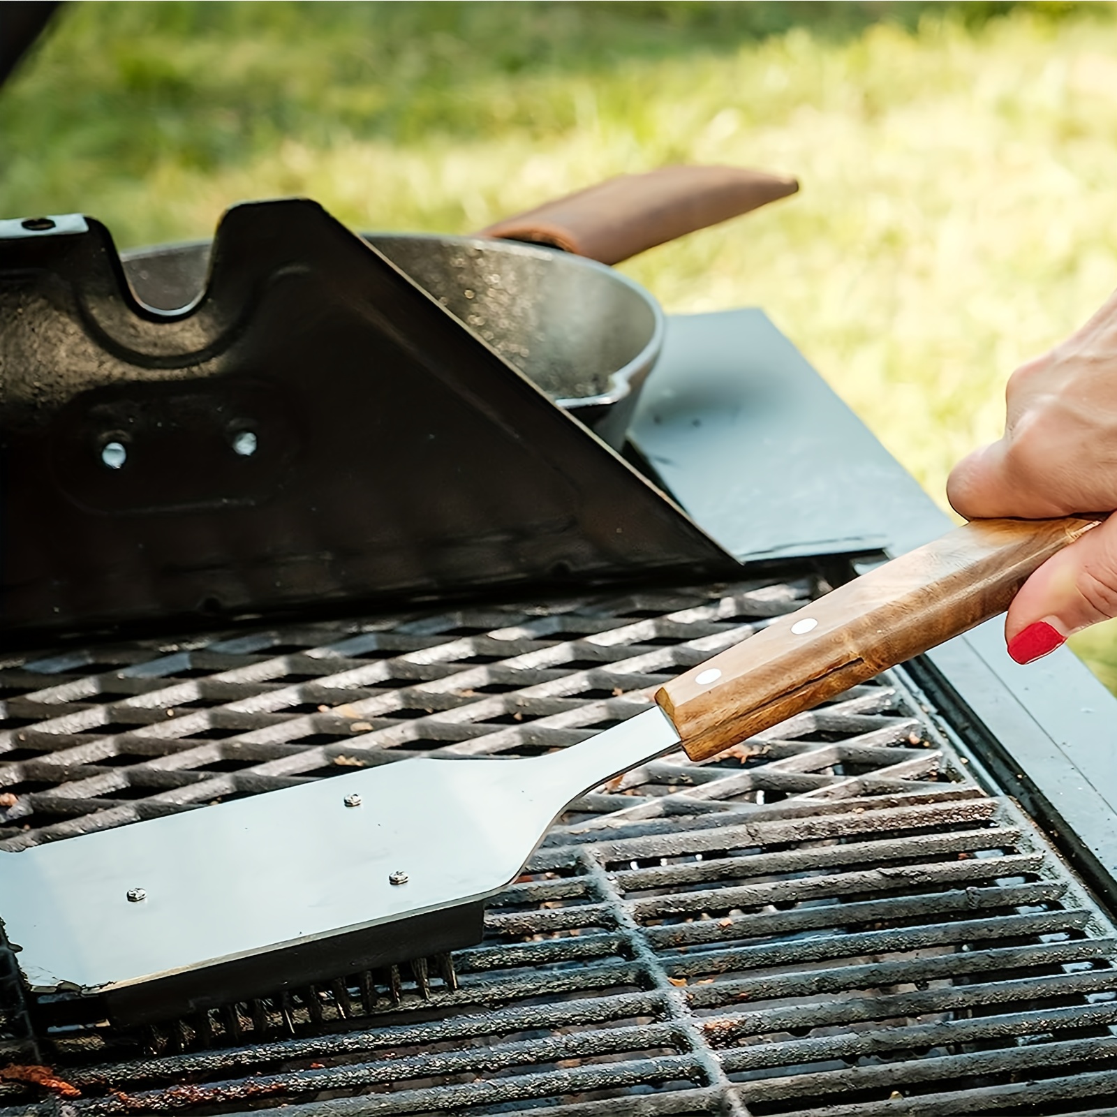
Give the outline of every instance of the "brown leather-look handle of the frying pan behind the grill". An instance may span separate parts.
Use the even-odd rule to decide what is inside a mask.
[[[794,179],[739,166],[661,166],[607,179],[497,221],[477,236],[550,245],[619,264],[796,190]]]

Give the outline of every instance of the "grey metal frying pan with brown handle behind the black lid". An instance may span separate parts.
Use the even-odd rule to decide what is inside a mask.
[[[659,356],[663,314],[643,287],[605,265],[796,189],[792,179],[738,168],[661,168],[608,180],[475,237],[363,236],[619,448]],[[144,303],[178,309],[206,285],[209,241],[134,249],[122,259]]]

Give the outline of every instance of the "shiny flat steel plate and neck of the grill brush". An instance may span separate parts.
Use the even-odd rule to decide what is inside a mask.
[[[32,989],[280,952],[275,987],[284,948],[491,896],[567,802],[678,741],[653,707],[546,756],[402,761],[3,853],[4,927]]]

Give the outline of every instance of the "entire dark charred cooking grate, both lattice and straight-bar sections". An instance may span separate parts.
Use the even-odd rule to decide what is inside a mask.
[[[12,661],[4,842],[354,763],[561,747],[817,589]],[[573,804],[490,905],[486,941],[456,955],[457,989],[431,975],[427,1000],[408,980],[398,1004],[365,1004],[353,978],[307,993],[286,1031],[214,1011],[163,1037],[212,1050],[144,1056],[88,1028],[40,1039],[82,1091],[75,1117],[1104,1113],[1115,954],[1113,925],[1034,824],[978,786],[894,671],[707,764],[668,756]],[[54,1113],[18,1082],[0,1104]]]

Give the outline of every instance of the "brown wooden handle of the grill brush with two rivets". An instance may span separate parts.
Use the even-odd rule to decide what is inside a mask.
[[[1097,519],[974,521],[773,621],[656,701],[695,761],[960,636]]]

